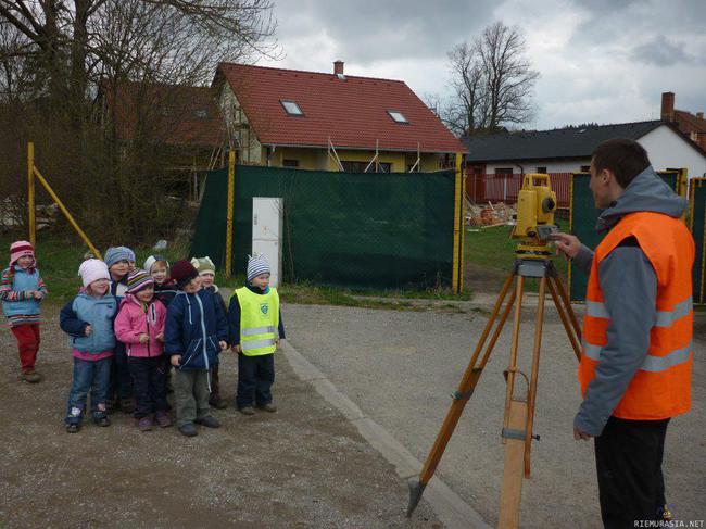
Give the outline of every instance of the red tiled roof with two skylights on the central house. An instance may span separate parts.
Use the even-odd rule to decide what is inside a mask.
[[[401,80],[300,72],[232,63],[218,65],[214,84],[225,77],[250,126],[264,144],[421,152],[463,151],[429,108]],[[304,116],[290,116],[280,101],[294,101]],[[395,123],[399,111],[408,124]]]

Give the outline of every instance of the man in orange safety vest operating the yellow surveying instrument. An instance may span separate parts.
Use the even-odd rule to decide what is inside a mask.
[[[686,205],[640,143],[614,139],[591,160],[591,191],[605,237],[595,252],[557,234],[557,253],[589,275],[577,440],[595,439],[606,528],[661,520],[667,425],[691,407],[694,241]]]

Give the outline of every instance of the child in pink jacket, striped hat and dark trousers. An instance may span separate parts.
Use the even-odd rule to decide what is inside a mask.
[[[137,404],[135,418],[141,431],[151,430],[155,419],[162,428],[172,424],[166,412],[165,318],[166,307],[154,299],[152,277],[141,269],[130,272],[127,294],[115,318],[115,336],[127,349]]]

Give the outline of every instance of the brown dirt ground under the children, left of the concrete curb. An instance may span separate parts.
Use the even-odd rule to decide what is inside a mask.
[[[426,503],[404,518],[394,468],[281,355],[276,414],[216,411],[223,427],[192,439],[141,433],[124,414],[68,434],[72,358],[55,316],[42,340],[46,380],[31,386],[18,381],[14,338],[0,329],[1,527],[442,527]],[[220,378],[232,402],[234,355]]]

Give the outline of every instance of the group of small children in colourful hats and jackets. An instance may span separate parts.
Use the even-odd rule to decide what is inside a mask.
[[[155,424],[168,427],[169,382],[182,434],[196,436],[196,425],[218,428],[211,407],[227,407],[218,355],[228,349],[238,353],[236,407],[244,415],[253,415],[254,406],[276,412],[274,352],[285,328],[267,259],[249,259],[245,286],[234,292],[228,307],[214,284],[211,259],[169,267],[164,257],[151,255],[143,268],[135,261],[126,247],[109,248],[104,261],[84,261],[78,268],[83,288],[61,310],[60,326],[70,336],[74,358],[66,431],[80,430],[89,393],[98,426],[109,426],[109,414],[119,407],[135,416],[142,431]],[[0,300],[17,339],[22,378],[31,383],[42,379],[35,362],[47,293],[31,244],[12,243]]]

